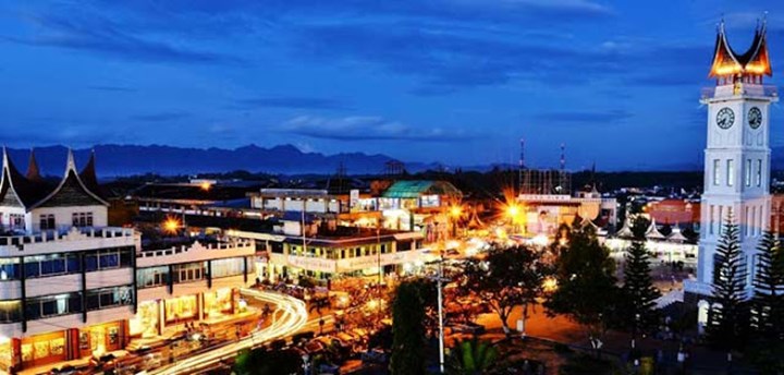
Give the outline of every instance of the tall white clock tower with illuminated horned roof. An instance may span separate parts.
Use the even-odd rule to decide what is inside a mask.
[[[693,294],[693,301],[702,300],[700,323],[707,319],[715,249],[728,219],[738,225],[748,274],[746,286],[749,292],[752,288],[756,247],[771,217],[769,113],[779,97],[775,87],[762,83],[771,75],[765,24],[757,27],[751,47],[736,53],[722,22],[709,74],[716,85],[705,89],[700,100],[708,106],[708,140],[697,280],[684,286],[687,299]]]

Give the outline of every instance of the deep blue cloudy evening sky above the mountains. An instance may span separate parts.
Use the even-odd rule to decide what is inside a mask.
[[[0,138],[695,164],[716,22],[745,50],[764,11],[779,73],[774,0],[9,0]]]

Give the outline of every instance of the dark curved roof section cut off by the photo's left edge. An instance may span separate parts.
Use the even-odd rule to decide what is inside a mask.
[[[29,209],[49,188],[44,180],[30,181],[20,173],[3,147],[2,181],[0,182],[0,205]]]

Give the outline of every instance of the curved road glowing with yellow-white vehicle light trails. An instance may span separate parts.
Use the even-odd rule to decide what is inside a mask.
[[[253,289],[242,289],[245,298],[253,298],[265,303],[277,305],[272,316],[272,325],[240,341],[216,348],[208,352],[188,356],[160,368],[148,372],[149,374],[183,374],[196,373],[200,368],[215,365],[226,358],[233,358],[240,350],[256,347],[262,342],[279,339],[298,331],[307,323],[308,314],[305,302],[293,297]]]

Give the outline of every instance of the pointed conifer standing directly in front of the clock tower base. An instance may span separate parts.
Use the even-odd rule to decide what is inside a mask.
[[[708,312],[708,338],[724,350],[743,347],[748,327],[744,261],[738,226],[731,211],[713,258],[714,304]]]

